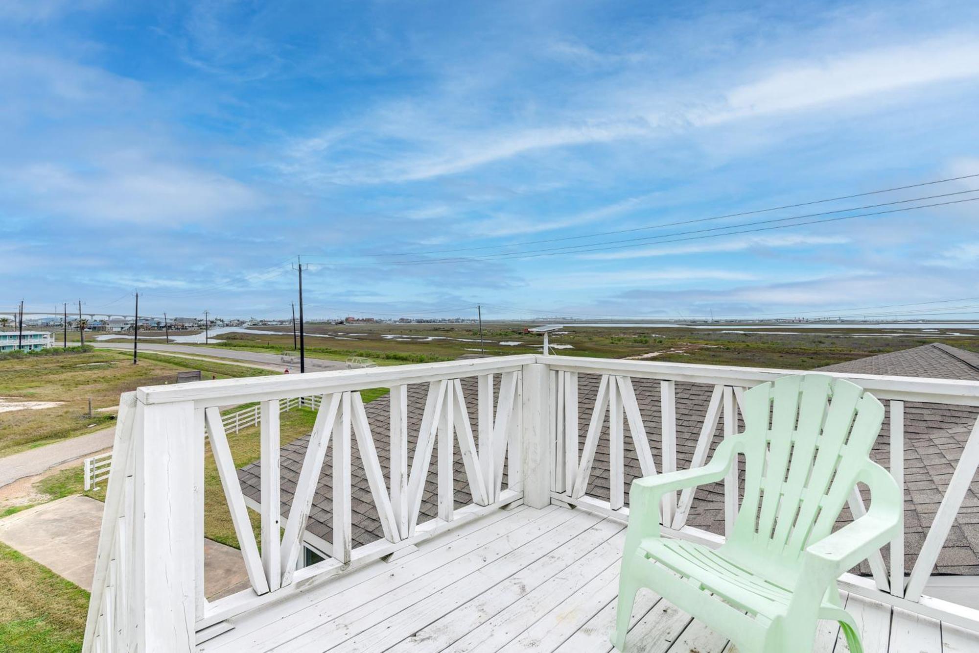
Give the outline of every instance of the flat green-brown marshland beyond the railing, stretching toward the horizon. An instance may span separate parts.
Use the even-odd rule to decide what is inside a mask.
[[[308,325],[306,354],[344,360],[365,356],[381,365],[454,360],[485,351],[489,355],[538,353],[539,335],[523,324],[484,325],[483,343],[476,325]],[[266,333],[225,333],[218,346],[262,352],[293,352],[289,326]],[[956,335],[965,332],[967,335]],[[645,357],[647,360],[712,365],[813,369],[873,354],[907,349],[932,341],[979,351],[979,329],[933,332],[885,328],[788,328],[739,326],[716,328],[643,326],[566,326],[550,338],[555,353],[599,358]]]

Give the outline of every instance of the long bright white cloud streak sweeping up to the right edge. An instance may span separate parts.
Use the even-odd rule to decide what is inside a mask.
[[[589,56],[587,49],[570,52]],[[716,75],[703,83],[688,80],[686,87],[696,90],[679,105],[665,99],[676,92],[669,84],[656,84],[654,91],[646,93],[599,93],[602,86],[587,85],[565,88],[577,98],[596,93],[600,97],[569,107],[537,107],[531,114],[533,121],[521,120],[518,114],[510,125],[500,125],[497,117],[482,113],[479,98],[436,91],[398,99],[349,123],[291,142],[281,168],[315,182],[419,181],[541,151],[657,138],[677,130],[828,105],[863,106],[897,91],[979,77],[979,41],[950,34],[908,45],[784,60],[764,69],[749,63],[744,69],[749,71],[747,77],[754,78],[733,87],[719,85]],[[628,78],[613,73],[608,81],[620,79],[626,84]],[[641,77],[642,83],[653,78]],[[454,87],[451,80],[444,85]],[[466,122],[460,123],[460,117]]]

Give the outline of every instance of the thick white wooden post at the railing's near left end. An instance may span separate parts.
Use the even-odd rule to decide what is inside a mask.
[[[133,596],[137,649],[195,645],[194,402],[136,405]]]

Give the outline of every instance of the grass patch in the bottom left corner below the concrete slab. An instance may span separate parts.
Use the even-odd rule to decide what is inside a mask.
[[[88,592],[0,543],[0,650],[81,650]]]

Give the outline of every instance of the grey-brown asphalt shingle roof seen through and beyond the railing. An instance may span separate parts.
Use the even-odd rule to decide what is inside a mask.
[[[868,358],[841,363],[822,368],[827,372],[853,374],[877,374],[908,377],[936,377],[979,380],[979,356],[944,344],[927,344],[913,349],[881,354]],[[594,398],[600,377],[598,375],[579,376],[580,440],[591,417]],[[653,379],[633,378],[636,401],[642,416],[653,458],[659,465],[662,453],[660,429],[659,382]],[[476,409],[476,379],[462,379],[463,393],[466,396],[469,419],[474,433],[478,433],[479,417]],[[676,458],[677,468],[690,466],[697,437],[707,413],[713,386],[709,384],[676,383]],[[417,433],[425,407],[427,384],[411,385],[408,388],[408,430]],[[886,402],[885,402],[886,403]],[[391,462],[390,452],[390,404],[388,397],[381,397],[365,406],[371,431],[374,435],[378,458],[385,477],[388,478]],[[889,411],[888,411],[889,414]],[[956,461],[968,439],[972,425],[979,417],[979,408],[951,406],[943,404],[905,404],[905,479],[908,487],[905,504],[906,524],[906,569],[910,570],[918,551],[924,542],[927,528],[931,526],[942,496],[955,471]],[[871,456],[875,461],[889,466],[890,437],[889,425],[885,419],[884,427],[877,438]],[[628,424],[625,427],[627,438],[625,455],[625,477],[627,485],[635,477],[641,476],[638,460],[629,439]],[[721,426],[715,433],[714,445],[722,438]],[[292,503],[293,492],[303,465],[303,456],[308,443],[305,435],[282,448],[282,512],[287,514]],[[352,537],[354,545],[366,544],[383,537],[377,510],[374,507],[367,478],[360,463],[356,449],[356,439],[351,438],[352,489],[351,513],[353,515]],[[409,435],[409,460],[413,455],[415,437]],[[434,518],[437,507],[437,459],[438,451],[433,452],[432,463],[425,493],[422,500],[420,522]],[[458,447],[455,447],[455,503],[461,507],[470,503],[470,493],[465,477]],[[602,429],[602,436],[595,453],[595,462],[588,482],[588,494],[607,499],[609,496],[609,446],[608,426]],[[247,497],[258,501],[260,496],[259,467],[249,465],[239,470],[243,490]],[[332,450],[328,450],[323,464],[313,507],[309,515],[308,529],[313,534],[331,541],[330,509],[332,478]],[[505,481],[504,481],[505,482]],[[865,500],[869,497],[865,496]],[[849,511],[844,510],[840,523],[850,520]],[[723,533],[723,485],[712,484],[697,489],[687,524],[711,532]],[[885,561],[888,557],[885,555]],[[868,573],[865,564],[861,570]],[[949,534],[946,546],[939,556],[939,574],[979,574],[979,481],[974,481],[966,493],[956,523]]]

